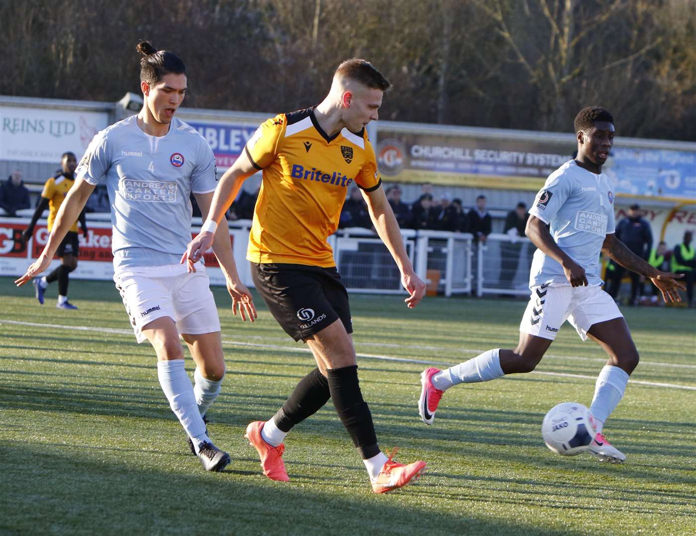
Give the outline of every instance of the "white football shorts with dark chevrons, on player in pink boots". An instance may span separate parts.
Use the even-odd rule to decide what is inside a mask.
[[[532,287],[520,323],[521,332],[553,341],[561,325],[568,320],[580,339],[587,341],[587,330],[592,325],[624,316],[612,297],[599,285],[551,285]]]

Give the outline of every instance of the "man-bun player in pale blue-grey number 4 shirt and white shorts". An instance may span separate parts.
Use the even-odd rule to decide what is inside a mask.
[[[217,175],[214,154],[196,130],[174,117],[187,88],[182,60],[143,41],[143,109],[97,133],[77,168],[42,254],[17,285],[44,271],[58,244],[97,184],[106,182],[113,225],[114,281],[139,343],[157,353],[157,375],[169,405],[207,471],[221,471],[227,453],[212,444],[204,417],[225,375],[220,322],[209,280],[179,262],[191,240],[191,202],[209,210]],[[250,320],[256,311],[240,282],[227,225],[215,233],[213,251],[227,280],[232,311]],[[190,271],[190,273],[189,273]],[[184,370],[181,334],[196,362],[195,386]]]

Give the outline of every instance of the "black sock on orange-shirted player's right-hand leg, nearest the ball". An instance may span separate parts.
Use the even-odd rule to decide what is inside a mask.
[[[329,391],[338,416],[363,460],[379,454],[372,414],[358,384],[358,366],[330,368]]]

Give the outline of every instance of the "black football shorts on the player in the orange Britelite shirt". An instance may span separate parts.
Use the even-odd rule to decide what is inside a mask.
[[[338,270],[285,263],[251,263],[251,277],[283,330],[304,341],[340,318],[352,333],[348,291]]]

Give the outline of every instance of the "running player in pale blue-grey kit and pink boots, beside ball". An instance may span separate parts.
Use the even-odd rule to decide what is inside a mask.
[[[578,156],[546,179],[529,211],[526,234],[538,249],[517,348],[489,350],[445,371],[423,371],[418,412],[426,424],[434,421],[443,392],[455,384],[533,371],[568,320],[583,341],[590,337],[609,356],[595,384],[590,411],[597,433],[587,451],[601,461],[626,460],[606,441],[602,429],[624,396],[628,375],[638,365],[638,350],[621,311],[601,290],[599,254],[604,252],[621,266],[651,279],[665,302],[679,301],[677,289],[683,285],[675,280],[681,276],[657,270],[615,238],[614,192],[602,173],[614,143],[613,122],[603,108],[583,108],[578,113]]]

